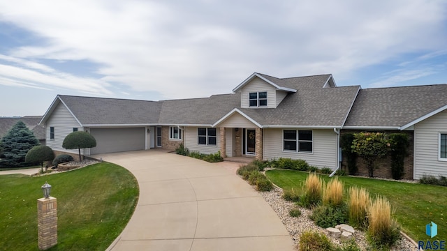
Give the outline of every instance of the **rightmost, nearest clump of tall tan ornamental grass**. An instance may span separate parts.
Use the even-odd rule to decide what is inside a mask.
[[[390,248],[400,239],[397,222],[391,218],[391,206],[383,197],[376,197],[368,210],[367,239],[378,249]]]

